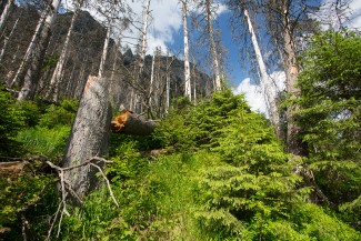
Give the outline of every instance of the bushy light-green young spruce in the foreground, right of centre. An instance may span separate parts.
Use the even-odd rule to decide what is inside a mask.
[[[301,179],[291,174],[289,157],[268,121],[229,91],[217,93],[197,110],[205,113],[197,112],[194,127],[212,133],[210,150],[222,160],[220,165],[200,171],[200,190],[207,191],[195,217],[203,229],[223,233],[222,238],[251,240],[260,235],[263,224],[287,219],[289,208],[308,190],[295,189]]]

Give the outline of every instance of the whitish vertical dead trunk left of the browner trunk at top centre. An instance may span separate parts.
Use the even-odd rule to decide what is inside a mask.
[[[187,0],[182,0],[183,12],[183,36],[184,36],[184,96],[192,100],[191,73],[189,67],[189,47],[188,47],[188,28],[187,28]]]

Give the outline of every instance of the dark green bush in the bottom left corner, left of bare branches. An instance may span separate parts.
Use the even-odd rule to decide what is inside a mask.
[[[54,177],[41,171],[43,164],[33,160],[26,173],[1,172],[0,177],[0,233],[2,240],[21,240],[22,220],[31,240],[44,240],[50,228],[48,217],[56,212],[58,190]],[[20,223],[20,224],[19,224]]]

